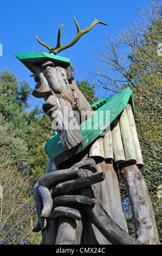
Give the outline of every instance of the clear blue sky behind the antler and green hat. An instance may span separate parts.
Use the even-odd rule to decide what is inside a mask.
[[[0,5],[0,44],[3,46],[3,56],[0,56],[0,70],[8,68],[14,72],[19,81],[27,80],[31,88],[35,81],[31,72],[14,56],[14,53],[48,52],[40,45],[38,38],[51,47],[56,46],[57,33],[63,23],[61,44],[72,41],[76,35],[74,17],[81,29],[87,28],[94,18],[103,21],[108,26],[96,25],[90,32],[83,35],[74,46],[60,52],[58,55],[72,60],[75,69],[75,80],[86,78],[85,68],[95,70],[95,58],[90,50],[93,44],[102,48],[106,35],[114,35],[113,29],[121,31],[126,26],[125,20],[132,21],[140,17],[137,6],[146,7],[146,0],[1,0]],[[104,96],[105,92],[101,96]],[[96,95],[99,95],[96,89]],[[100,95],[99,95],[100,96]],[[31,97],[30,104],[43,102],[42,99]],[[40,103],[41,107],[41,103]]]

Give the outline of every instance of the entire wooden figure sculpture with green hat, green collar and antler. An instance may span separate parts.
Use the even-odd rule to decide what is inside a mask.
[[[47,172],[34,186],[38,221],[33,231],[42,231],[46,245],[158,244],[151,199],[139,170],[143,162],[132,90],[90,106],[76,86],[70,60],[55,55],[97,23],[106,25],[95,19],[81,31],[75,23],[77,35],[70,44],[60,44],[61,26],[55,48],[37,38],[50,53],[15,54],[33,72],[33,95],[44,98],[43,111],[55,131],[45,147]],[[128,234],[118,170],[131,202],[136,239]]]

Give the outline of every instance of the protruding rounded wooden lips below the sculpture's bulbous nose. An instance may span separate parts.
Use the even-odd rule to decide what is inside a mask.
[[[59,108],[59,106],[57,105],[56,97],[54,95],[50,95],[46,102],[44,102],[43,104],[44,113],[46,113],[50,117],[51,113],[57,108]]]

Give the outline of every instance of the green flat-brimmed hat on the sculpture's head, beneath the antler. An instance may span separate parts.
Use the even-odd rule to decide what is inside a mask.
[[[51,60],[53,63],[64,64],[66,66],[72,66],[72,62],[68,58],[56,56],[47,52],[26,52],[14,54],[33,74],[33,63],[43,63],[45,60]]]

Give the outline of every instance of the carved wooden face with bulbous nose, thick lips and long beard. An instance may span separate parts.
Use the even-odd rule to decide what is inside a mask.
[[[74,69],[55,66],[50,61],[41,66],[33,65],[37,82],[33,95],[43,97],[43,111],[49,116],[53,129],[57,132],[64,150],[75,147],[82,141],[78,123],[82,114],[92,113],[89,103],[77,88],[74,81]],[[74,111],[77,111],[77,120]]]

